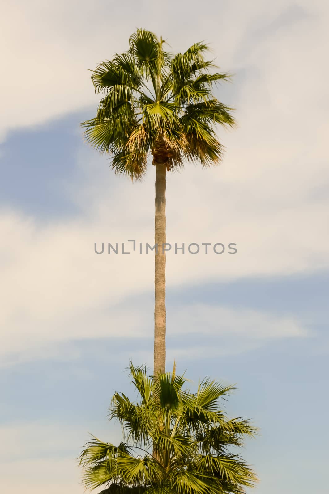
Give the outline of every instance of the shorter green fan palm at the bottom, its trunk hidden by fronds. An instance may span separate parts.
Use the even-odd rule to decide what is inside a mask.
[[[256,429],[243,418],[228,419],[218,400],[232,386],[203,380],[196,393],[183,389],[184,377],[130,365],[140,400],[115,393],[110,419],[118,419],[123,441],[97,438],[80,455],[87,489],[102,494],[241,494],[257,478],[231,447],[240,447]],[[156,448],[156,457],[150,453]]]

